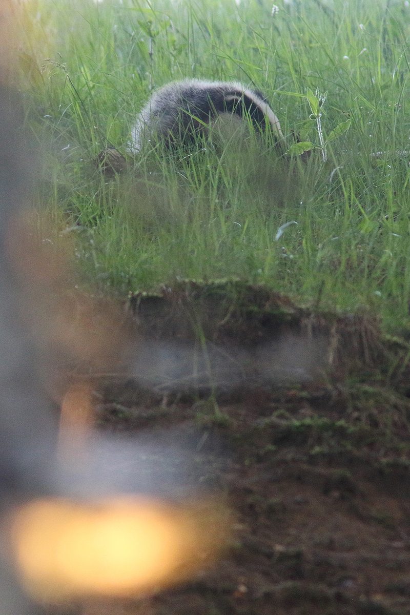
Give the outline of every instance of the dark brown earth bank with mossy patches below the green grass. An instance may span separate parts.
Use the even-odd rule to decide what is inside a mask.
[[[410,613],[406,343],[369,315],[239,283],[189,282],[130,308],[144,352],[159,344],[168,362],[151,352],[151,371],[135,358],[131,376],[99,379],[98,424],[177,429],[197,491],[226,498],[232,538],[184,585],[85,613]]]

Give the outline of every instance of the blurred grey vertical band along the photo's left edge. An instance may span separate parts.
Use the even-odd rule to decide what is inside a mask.
[[[57,424],[39,386],[35,353],[18,319],[18,296],[6,258],[11,216],[26,202],[28,151],[19,138],[17,96],[0,84],[0,488],[1,509],[15,499],[47,491],[47,456],[53,455]],[[1,560],[2,613],[24,613],[28,603]]]

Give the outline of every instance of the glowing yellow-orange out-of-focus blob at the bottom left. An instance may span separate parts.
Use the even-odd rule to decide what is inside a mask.
[[[224,546],[226,522],[226,510],[209,504],[37,500],[15,513],[12,549],[41,600],[135,596],[195,574]]]

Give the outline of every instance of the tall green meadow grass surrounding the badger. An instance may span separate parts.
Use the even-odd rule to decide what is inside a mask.
[[[278,0],[279,2],[279,0]],[[44,161],[34,206],[78,226],[79,276],[101,292],[238,278],[303,304],[371,310],[410,333],[410,7],[400,1],[37,0],[27,5],[22,89]],[[47,58],[47,59],[46,59]],[[186,151],[141,154],[114,180],[152,88],[239,80],[263,90],[288,146],[319,145],[307,88],[328,92],[307,159],[229,127]],[[221,145],[223,143],[223,145]],[[69,147],[68,147],[69,146]],[[378,156],[374,154],[381,152]],[[278,227],[296,221],[275,240]]]

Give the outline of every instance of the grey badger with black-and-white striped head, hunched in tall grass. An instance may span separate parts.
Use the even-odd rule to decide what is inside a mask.
[[[270,125],[277,140],[283,141],[278,118],[261,92],[237,82],[186,79],[152,95],[132,129],[130,149],[139,152],[149,141],[171,145],[192,140],[205,132],[212,119],[227,113],[249,117],[262,131]]]

